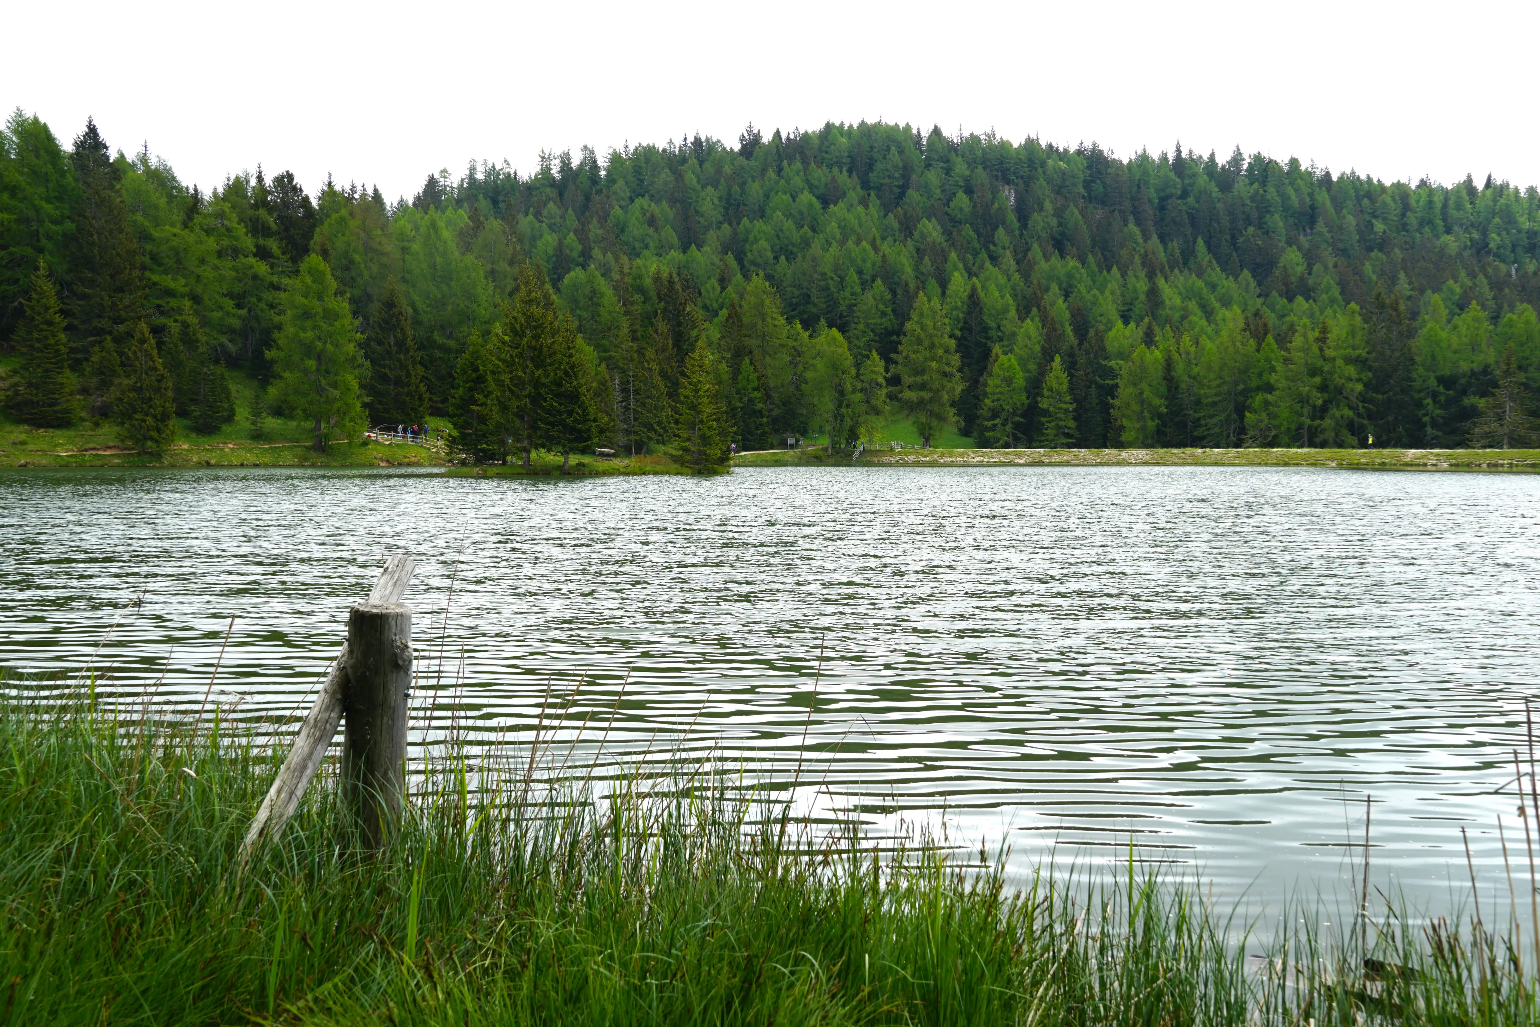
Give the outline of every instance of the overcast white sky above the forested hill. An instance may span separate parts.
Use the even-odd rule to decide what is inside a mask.
[[[3,15],[0,103],[188,183],[411,196],[471,159],[861,119],[1540,183],[1540,2],[75,3]]]

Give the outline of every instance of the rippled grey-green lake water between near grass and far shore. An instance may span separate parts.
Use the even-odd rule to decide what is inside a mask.
[[[801,764],[804,804],[878,831],[1018,867],[1132,839],[1263,899],[1349,879],[1366,795],[1375,881],[1417,899],[1468,881],[1461,827],[1483,898],[1498,815],[1522,851],[1495,790],[1540,674],[1540,476],[8,471],[0,665],[196,708],[234,617],[211,705],[286,714],[399,550],[414,739],[528,742],[550,687],[559,744],[596,744],[619,699],[621,764]]]

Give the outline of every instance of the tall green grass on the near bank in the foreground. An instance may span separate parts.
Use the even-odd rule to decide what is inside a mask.
[[[1368,964],[1355,935],[1257,961],[1194,890],[1013,890],[979,853],[878,855],[704,771],[536,799],[528,750],[444,751],[380,861],[323,782],[243,867],[276,756],[229,725],[11,697],[0,753],[6,1024],[1535,1019],[1506,938],[1386,922]]]

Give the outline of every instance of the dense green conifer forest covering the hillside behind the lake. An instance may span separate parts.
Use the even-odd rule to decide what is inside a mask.
[[[993,445],[1532,437],[1534,186],[881,123],[471,165],[394,203],[260,168],[205,194],[22,112],[0,149],[0,339],[37,423],[217,427],[239,368],[319,443],[448,414],[487,460],[711,463],[890,414]]]

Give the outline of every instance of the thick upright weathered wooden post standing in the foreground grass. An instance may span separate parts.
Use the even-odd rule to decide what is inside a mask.
[[[411,696],[411,610],[360,602],[348,613],[348,688],[342,697],[342,801],[363,848],[400,822]]]

